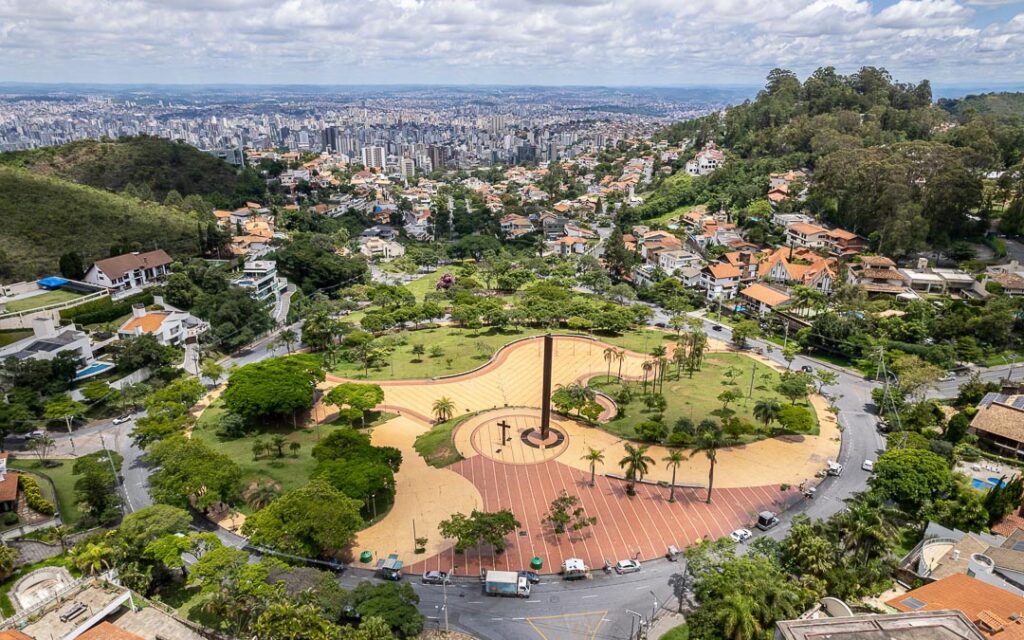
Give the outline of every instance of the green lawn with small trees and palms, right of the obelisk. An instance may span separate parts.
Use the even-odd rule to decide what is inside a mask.
[[[745,395],[751,388],[752,367],[755,369],[754,393],[748,399]],[[727,375],[730,369],[736,372],[736,376],[733,378],[735,384],[731,384]],[[730,404],[729,409],[735,411],[738,418],[754,424],[759,424],[753,413],[754,404],[759,399],[774,397],[781,404],[788,402],[773,391],[779,380],[778,372],[739,353],[709,353],[705,358],[703,367],[693,374],[693,378],[687,377],[684,371],[682,378],[675,380],[675,368],[671,366],[666,376],[664,395],[669,401],[669,406],[665,412],[665,425],[670,430],[680,418],[690,418],[693,422],[700,422],[705,418],[714,419],[715,416],[712,412],[722,408],[718,395],[726,389],[736,389],[743,393],[743,399]],[[596,379],[592,384],[612,397],[622,388],[617,381],[602,382],[600,379]],[[625,407],[625,415],[602,425],[602,427],[615,435],[635,438],[637,437],[636,426],[649,420],[655,412],[644,406],[640,383],[629,384],[634,390],[634,399]],[[816,422],[815,417],[815,424]],[[816,433],[817,429],[815,428],[813,432]]]

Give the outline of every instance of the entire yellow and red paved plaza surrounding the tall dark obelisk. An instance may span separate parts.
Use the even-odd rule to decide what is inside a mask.
[[[715,346],[715,350],[725,350]],[[554,384],[570,384],[606,373],[604,347],[603,343],[583,338],[557,337]],[[669,544],[683,546],[706,536],[717,538],[751,525],[758,511],[781,510],[800,498],[797,490],[782,492],[781,486],[813,482],[814,473],[839,452],[835,419],[823,411],[823,400],[818,398],[815,407],[821,422],[820,435],[772,438],[720,452],[711,505],[702,502],[702,488],[677,489],[677,502],[673,504],[667,500],[668,488],[655,485],[641,485],[634,499],[626,498],[625,484],[618,479],[599,477],[596,486],[590,487],[587,463],[581,460],[583,454],[590,447],[602,451],[605,462],[599,471],[617,472],[625,441],[568,419],[556,419],[558,428],[566,434],[566,442],[554,456],[547,452],[526,460],[527,454],[523,453],[517,460],[510,458],[518,455],[514,446],[481,455],[482,441],[494,440],[494,445],[500,440],[494,428],[500,417],[513,423],[509,435],[514,442],[518,440],[517,431],[531,426],[530,417],[539,411],[515,408],[539,403],[542,357],[543,342],[535,338],[502,348],[490,362],[473,372],[438,380],[378,383],[384,389],[382,408],[399,413],[400,418],[375,428],[373,441],[400,449],[403,463],[396,475],[395,507],[383,520],[360,532],[356,552],[370,550],[377,556],[397,553],[411,565],[411,571],[440,568],[460,574],[473,574],[480,567],[524,568],[534,555],[544,557],[546,570],[556,570],[561,559],[572,555],[598,565],[605,557],[617,559],[638,553],[640,558],[648,559],[664,554]],[[640,365],[645,359],[642,354],[627,351],[624,376],[640,377]],[[346,381],[329,375],[323,386],[330,388]],[[441,396],[456,402],[457,415],[483,413],[461,425],[455,435],[466,460],[446,469],[433,469],[416,453],[413,443],[430,428],[431,406]],[[487,435],[477,433],[474,440],[474,432],[484,423],[489,425]],[[671,479],[662,462],[667,454],[665,447],[650,447],[655,464],[648,478]],[[684,463],[677,483],[702,486],[708,465],[702,456]],[[579,496],[586,512],[598,516],[598,524],[586,536],[577,535],[572,540],[555,537],[544,526],[544,512],[561,490]],[[508,552],[497,555],[476,550],[455,554],[452,541],[439,538],[437,525],[442,519],[474,508],[508,508],[516,514],[522,527],[509,537]],[[413,552],[414,520],[417,535],[428,539],[424,556]],[[415,562],[417,557],[423,560]]]

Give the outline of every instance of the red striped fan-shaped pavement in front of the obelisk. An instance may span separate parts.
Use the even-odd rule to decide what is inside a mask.
[[[509,465],[474,456],[449,469],[476,485],[486,510],[511,509],[526,535],[509,536],[509,547],[501,555],[490,549],[470,549],[464,554],[450,549],[413,563],[412,573],[442,569],[476,575],[481,567],[523,569],[534,556],[544,559],[545,572],[557,571],[562,560],[573,557],[583,558],[591,567],[602,566],[605,559],[649,560],[665,555],[669,545],[682,548],[705,536],[719,538],[751,526],[758,512],[781,511],[785,498],[792,498],[778,486],[722,488],[715,489],[709,505],[703,502],[705,489],[677,488],[676,502],[670,503],[667,488],[639,484],[637,496],[630,499],[624,481],[599,475],[591,487],[589,473],[554,460]],[[597,516],[597,524],[582,535],[554,536],[542,518],[562,490],[578,496],[587,514]]]

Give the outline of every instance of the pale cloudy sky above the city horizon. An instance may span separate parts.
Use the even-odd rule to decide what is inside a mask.
[[[1024,1],[0,0],[0,82],[1024,82]]]

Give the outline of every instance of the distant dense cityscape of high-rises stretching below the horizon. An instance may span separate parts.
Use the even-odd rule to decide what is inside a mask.
[[[330,152],[368,167],[536,164],[720,111],[742,89],[350,87],[212,90],[6,86],[0,152],[152,135],[242,165],[244,148]]]

